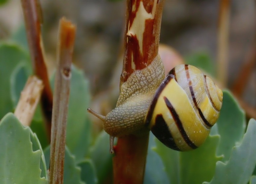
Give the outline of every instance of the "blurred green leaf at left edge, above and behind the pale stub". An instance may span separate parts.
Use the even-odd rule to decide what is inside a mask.
[[[13,110],[10,91],[10,78],[12,71],[20,61],[28,64],[29,55],[27,52],[23,51],[14,44],[0,44],[0,119],[6,113]]]

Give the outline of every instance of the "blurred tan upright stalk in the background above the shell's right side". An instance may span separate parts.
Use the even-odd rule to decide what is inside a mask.
[[[221,0],[217,33],[217,78],[223,86],[226,86],[228,79],[229,14],[230,0]]]

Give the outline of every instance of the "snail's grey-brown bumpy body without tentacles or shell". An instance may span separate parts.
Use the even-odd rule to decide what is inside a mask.
[[[144,69],[133,72],[121,85],[117,106],[106,115],[104,130],[120,137],[147,128],[145,115],[163,79],[164,66],[159,55]]]

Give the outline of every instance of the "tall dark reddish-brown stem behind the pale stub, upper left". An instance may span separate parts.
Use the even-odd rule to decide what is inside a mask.
[[[50,140],[52,120],[52,90],[44,60],[44,47],[41,35],[42,12],[38,0],[21,0],[23,16],[27,31],[34,73],[43,81],[44,89],[41,97],[42,112],[45,118],[46,130]]]

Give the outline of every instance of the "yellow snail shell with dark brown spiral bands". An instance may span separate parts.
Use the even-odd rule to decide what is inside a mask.
[[[199,147],[216,123],[222,91],[191,65],[179,65],[156,90],[145,124],[167,147],[187,151]]]

